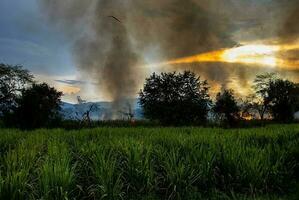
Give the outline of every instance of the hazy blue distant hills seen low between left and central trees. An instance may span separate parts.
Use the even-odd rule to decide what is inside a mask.
[[[90,117],[93,120],[125,119],[126,116],[124,116],[121,112],[128,112],[128,108],[126,106],[122,109],[114,110],[111,102],[86,102],[81,104],[62,102],[60,112],[64,119],[82,119],[84,113],[86,113],[92,105],[95,105],[94,109],[90,112]],[[134,101],[132,110],[135,115],[135,119],[143,118],[142,109],[137,103],[137,100]]]

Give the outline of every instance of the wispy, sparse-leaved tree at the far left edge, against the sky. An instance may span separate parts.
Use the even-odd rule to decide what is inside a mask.
[[[22,66],[0,64],[0,114],[16,106],[21,91],[33,83],[33,75]]]

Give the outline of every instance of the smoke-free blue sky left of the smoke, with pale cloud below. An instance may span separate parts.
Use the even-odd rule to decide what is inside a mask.
[[[1,0],[0,27],[1,63],[22,65],[39,82],[62,90],[64,100],[76,100],[72,93],[80,89],[67,82],[78,76],[70,44],[64,34],[49,26],[36,0]]]

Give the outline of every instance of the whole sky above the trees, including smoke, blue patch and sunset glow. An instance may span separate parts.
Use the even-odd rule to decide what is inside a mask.
[[[174,70],[245,96],[259,73],[299,82],[298,13],[298,0],[1,0],[0,63],[67,102],[118,104]]]

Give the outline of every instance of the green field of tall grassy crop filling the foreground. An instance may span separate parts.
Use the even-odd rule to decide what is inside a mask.
[[[0,129],[0,199],[298,199],[299,125]]]

